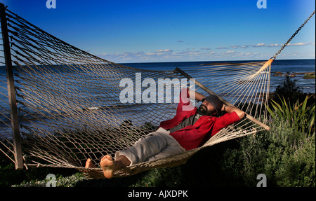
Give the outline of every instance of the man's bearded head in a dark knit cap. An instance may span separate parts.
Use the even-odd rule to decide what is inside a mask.
[[[202,99],[202,104],[197,111],[202,115],[216,116],[220,114],[222,106],[222,102],[216,95],[209,95]]]

